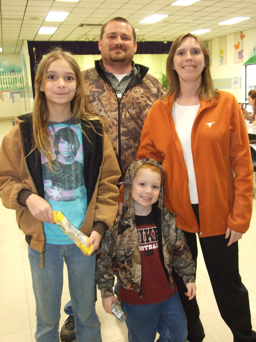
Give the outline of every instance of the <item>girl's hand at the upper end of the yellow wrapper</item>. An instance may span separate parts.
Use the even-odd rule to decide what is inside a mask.
[[[26,198],[25,202],[34,218],[42,222],[55,224],[52,207],[45,199],[36,194],[31,194]]]

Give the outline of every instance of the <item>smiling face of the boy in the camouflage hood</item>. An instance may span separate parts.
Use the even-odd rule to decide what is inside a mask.
[[[147,168],[139,168],[132,182],[132,198],[136,215],[148,215],[159,197],[161,175]]]

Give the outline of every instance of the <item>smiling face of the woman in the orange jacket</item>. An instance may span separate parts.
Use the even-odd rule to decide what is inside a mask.
[[[180,82],[201,83],[204,67],[204,54],[197,39],[194,37],[184,38],[173,57],[173,69],[179,75]]]

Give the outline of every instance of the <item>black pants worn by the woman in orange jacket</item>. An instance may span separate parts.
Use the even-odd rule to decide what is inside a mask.
[[[198,218],[198,207],[194,207],[194,211]],[[196,261],[196,234],[187,232],[184,234]],[[248,291],[239,274],[238,242],[228,247],[228,239],[225,239],[225,235],[204,237],[199,241],[219,312],[232,331],[234,342],[256,342],[256,332],[252,330],[251,324]],[[200,342],[204,334],[197,301],[195,298],[194,302],[187,299],[184,295],[186,287],[180,281],[182,278],[177,277],[175,273],[173,272],[173,275],[188,321],[187,339],[189,342]]]

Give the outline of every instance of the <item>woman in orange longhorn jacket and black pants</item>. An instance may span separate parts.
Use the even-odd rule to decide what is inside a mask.
[[[238,269],[237,241],[249,227],[253,198],[241,108],[232,94],[214,89],[209,52],[202,39],[190,33],[172,43],[167,81],[167,93],[146,117],[137,158],[161,163],[164,205],[175,214],[195,261],[198,233],[219,311],[234,342],[256,341]],[[196,299],[184,298],[184,285],[177,276],[175,281],[187,315],[187,339],[202,341]]]

